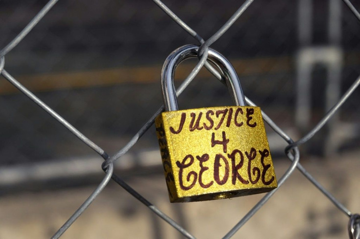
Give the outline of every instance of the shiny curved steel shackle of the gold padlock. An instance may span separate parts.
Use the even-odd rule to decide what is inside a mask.
[[[231,63],[219,52],[208,48],[207,60],[213,63],[225,76],[227,87],[235,105],[245,106],[245,97],[239,78]],[[165,60],[161,70],[161,89],[165,111],[178,110],[178,100],[174,86],[176,67],[181,61],[198,57],[199,46],[185,45],[173,51]]]

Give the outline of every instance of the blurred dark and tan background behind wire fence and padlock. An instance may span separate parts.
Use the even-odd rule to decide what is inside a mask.
[[[1,0],[0,48],[46,2]],[[164,1],[205,40],[242,2]],[[211,47],[234,65],[245,95],[297,140],[360,75],[359,40],[360,23],[341,0],[256,0]],[[185,44],[198,42],[152,1],[61,0],[6,55],[5,69],[112,155],[162,104],[162,63]],[[176,85],[196,63],[180,65]],[[359,102],[357,90],[300,147],[304,167],[353,213]],[[179,97],[180,109],[231,104],[206,69]],[[104,177],[102,159],[3,78],[0,109],[0,238],[49,238]],[[286,143],[267,132],[279,179],[290,165]],[[153,128],[115,172],[198,238],[224,236],[263,196],[170,204]],[[346,238],[347,220],[295,171],[234,238]],[[63,237],[181,238],[113,182]]]

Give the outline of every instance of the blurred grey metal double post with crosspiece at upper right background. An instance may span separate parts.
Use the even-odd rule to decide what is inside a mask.
[[[337,102],[341,90],[341,71],[343,65],[343,51],[341,41],[341,1],[329,0],[328,40],[325,46],[311,46],[313,41],[313,0],[299,0],[298,39],[300,49],[296,55],[296,124],[302,132],[311,127],[312,96],[311,85],[317,84],[312,80],[315,65],[326,67],[327,79],[325,86],[325,111]],[[324,133],[322,153],[330,155],[338,149],[341,140],[337,137],[339,114],[329,122],[329,132]]]

